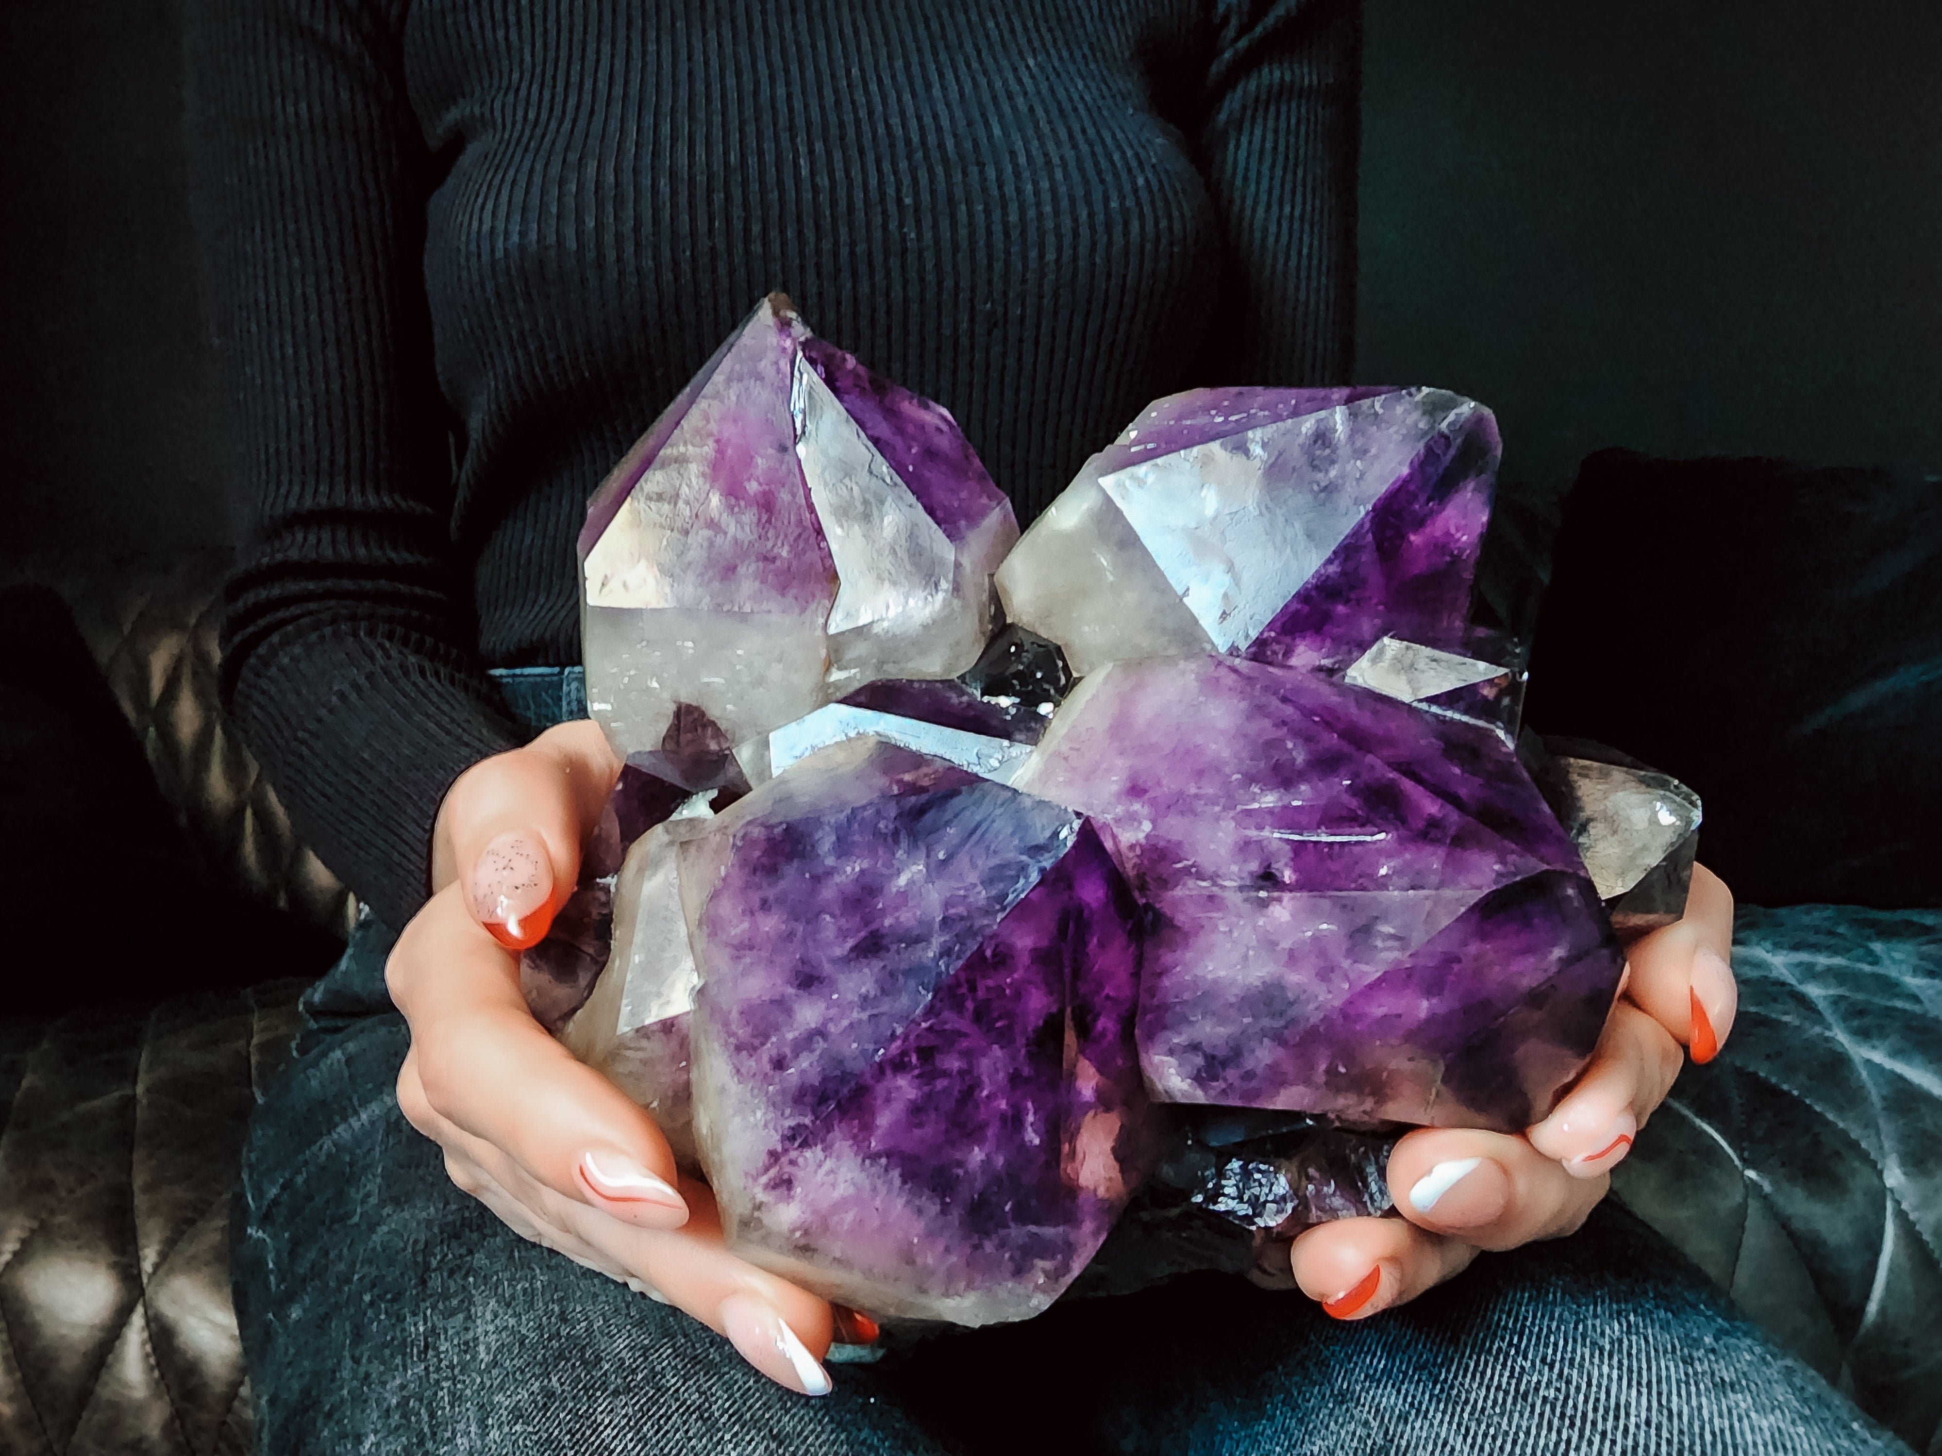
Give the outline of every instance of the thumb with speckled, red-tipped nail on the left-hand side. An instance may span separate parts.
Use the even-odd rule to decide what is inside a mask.
[[[433,835],[433,891],[452,879],[501,945],[546,938],[573,895],[581,844],[614,790],[619,761],[590,722],[550,728],[526,747],[474,763],[447,790]]]

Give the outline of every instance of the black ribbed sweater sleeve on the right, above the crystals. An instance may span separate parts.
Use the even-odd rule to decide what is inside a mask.
[[[1361,0],[1216,0],[1214,21],[1200,155],[1227,254],[1198,373],[1348,382]]]

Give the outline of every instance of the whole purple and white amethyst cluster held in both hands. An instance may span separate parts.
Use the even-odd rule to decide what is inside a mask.
[[[1439,390],[1198,390],[1020,540],[942,408],[767,299],[588,509],[627,769],[528,994],[732,1248],[880,1316],[1381,1211],[1400,1124],[1577,1075],[1699,819],[1519,732],[1495,460]]]

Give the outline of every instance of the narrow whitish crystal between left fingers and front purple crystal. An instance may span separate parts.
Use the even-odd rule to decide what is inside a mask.
[[[687,1015],[701,976],[682,914],[680,846],[705,817],[668,819],[627,850],[614,885],[614,949],[559,1033],[577,1058],[645,1107],[674,1155],[695,1163]]]

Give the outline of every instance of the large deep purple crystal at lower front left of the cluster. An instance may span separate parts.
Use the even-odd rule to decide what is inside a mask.
[[[682,848],[732,1250],[878,1316],[1045,1308],[1138,1176],[1136,907],[1068,810],[872,740]]]

